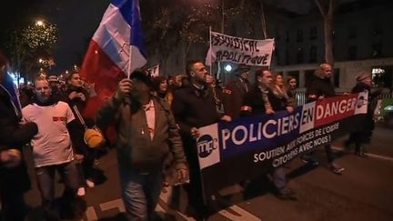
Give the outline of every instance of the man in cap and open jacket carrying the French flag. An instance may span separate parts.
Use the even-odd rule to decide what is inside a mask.
[[[155,220],[163,161],[170,151],[179,182],[188,177],[186,156],[169,105],[150,94],[151,80],[136,70],[119,82],[99,110],[98,126],[116,124],[117,160],[128,220]]]

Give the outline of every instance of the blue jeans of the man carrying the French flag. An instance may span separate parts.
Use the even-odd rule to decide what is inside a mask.
[[[139,174],[132,168],[120,168],[123,202],[129,220],[151,220],[161,192],[162,169]]]

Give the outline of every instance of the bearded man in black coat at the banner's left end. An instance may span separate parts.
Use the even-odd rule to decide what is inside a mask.
[[[217,123],[219,114],[212,87],[205,81],[206,66],[199,60],[191,60],[186,65],[189,84],[176,90],[172,101],[172,111],[180,128],[190,170],[190,186],[187,190],[190,205],[196,210],[196,218],[207,216],[200,180],[196,150],[197,128]]]

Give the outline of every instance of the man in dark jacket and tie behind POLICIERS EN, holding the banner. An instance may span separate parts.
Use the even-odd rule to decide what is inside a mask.
[[[241,107],[242,115],[264,115],[273,114],[275,111],[286,110],[293,112],[293,107],[282,104],[281,99],[273,94],[270,89],[272,75],[269,70],[260,69],[256,72],[256,85],[247,93]],[[277,188],[277,197],[280,199],[296,199],[293,192],[287,187],[287,179],[283,166],[273,168],[270,173],[274,186]]]

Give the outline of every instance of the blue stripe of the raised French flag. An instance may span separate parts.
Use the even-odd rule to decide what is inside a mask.
[[[140,53],[146,57],[146,47],[142,31],[142,21],[139,12],[138,0],[113,0],[115,5],[123,15],[126,22],[131,26],[131,45],[135,45]]]

